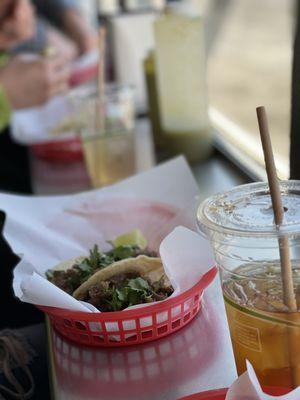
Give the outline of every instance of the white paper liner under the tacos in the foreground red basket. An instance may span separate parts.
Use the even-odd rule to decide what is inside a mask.
[[[14,271],[14,291],[33,304],[89,311],[44,276],[59,262],[87,255],[97,243],[139,228],[150,248],[159,250],[175,295],[198,282],[213,266],[207,242],[195,229],[198,187],[183,158],[109,188],[64,197],[0,196],[8,222],[5,236],[24,254]],[[164,239],[165,238],[165,239]],[[163,242],[161,243],[161,241]]]

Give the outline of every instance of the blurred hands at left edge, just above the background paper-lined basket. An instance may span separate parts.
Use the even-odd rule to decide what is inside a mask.
[[[28,61],[18,56],[0,70],[0,85],[13,109],[45,103],[66,91],[69,79],[69,64],[58,58]]]

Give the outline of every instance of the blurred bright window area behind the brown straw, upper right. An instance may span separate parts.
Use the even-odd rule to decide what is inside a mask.
[[[264,177],[255,108],[265,105],[278,175],[288,178],[294,1],[207,3],[208,24],[218,21],[208,57],[217,144],[257,177]],[[211,29],[208,26],[208,33]]]

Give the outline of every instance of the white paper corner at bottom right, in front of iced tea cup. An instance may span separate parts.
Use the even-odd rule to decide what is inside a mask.
[[[225,400],[299,400],[300,387],[283,396],[271,396],[263,392],[252,365],[247,361],[247,372],[229,388]]]

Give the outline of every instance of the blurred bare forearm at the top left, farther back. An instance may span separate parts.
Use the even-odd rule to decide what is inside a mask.
[[[68,9],[63,16],[63,28],[76,43],[79,54],[84,54],[98,47],[98,35],[84,17],[76,10]]]

